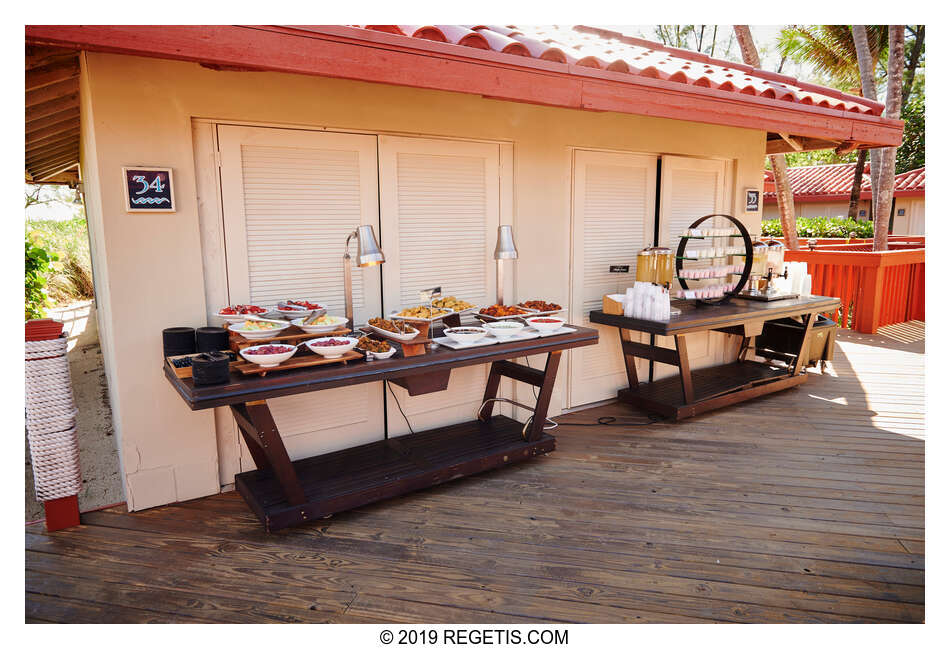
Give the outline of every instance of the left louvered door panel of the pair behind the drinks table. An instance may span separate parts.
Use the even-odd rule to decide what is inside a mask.
[[[614,327],[591,324],[605,294],[633,285],[637,253],[653,240],[656,156],[574,152],[571,322],[594,327],[600,342],[570,352],[570,407],[612,399],[627,385]],[[611,265],[630,273],[611,273]],[[634,339],[639,336],[634,334]],[[638,371],[641,371],[638,362]]]

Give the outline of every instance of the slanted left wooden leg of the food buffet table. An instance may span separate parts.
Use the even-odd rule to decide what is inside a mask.
[[[300,505],[307,502],[267,402],[249,401],[233,405],[231,412],[244,435],[257,468],[270,471],[277,478],[288,503]]]

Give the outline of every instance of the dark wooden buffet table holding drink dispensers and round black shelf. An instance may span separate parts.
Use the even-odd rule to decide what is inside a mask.
[[[821,296],[774,302],[734,299],[715,306],[677,303],[681,315],[663,322],[626,318],[603,311],[592,311],[590,321],[617,327],[620,334],[629,387],[620,390],[618,398],[665,417],[684,419],[804,383],[808,375],[802,371],[802,364],[812,324],[819,313],[834,311],[840,305],[838,298]],[[753,339],[762,333],[766,321],[795,316],[802,318],[804,337],[794,362],[787,368],[780,368],[746,359],[749,350],[754,350]],[[631,340],[631,331],[673,336],[675,349]],[[741,336],[742,344],[736,360],[691,370],[686,334],[699,331]],[[679,376],[641,384],[637,377],[636,358],[676,366]]]

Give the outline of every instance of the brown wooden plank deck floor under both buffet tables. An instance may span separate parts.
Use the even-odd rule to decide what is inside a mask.
[[[839,333],[804,386],[265,534],[235,493],[26,531],[52,622],[924,617],[923,326]]]

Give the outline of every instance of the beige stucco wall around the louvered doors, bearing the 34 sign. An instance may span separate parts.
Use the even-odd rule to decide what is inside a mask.
[[[198,215],[209,197],[196,196],[193,118],[512,142],[516,295],[561,304],[569,303],[571,147],[735,161],[740,216],[738,190],[761,189],[760,131],[93,53],[84,56],[82,88],[100,325],[133,509],[219,485],[213,414],[189,411],[159,367],[161,330],[204,325],[209,307]],[[125,211],[120,168],[135,164],[174,169],[177,213]],[[758,217],[746,220],[753,228]]]

